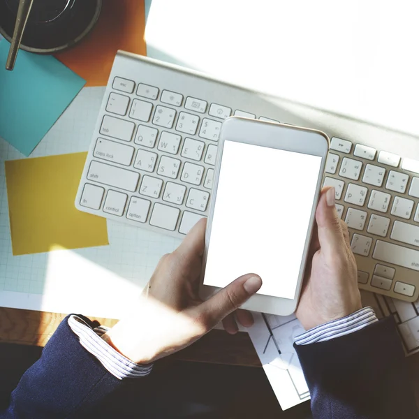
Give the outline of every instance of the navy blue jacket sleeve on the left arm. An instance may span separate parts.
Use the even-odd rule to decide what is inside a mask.
[[[0,418],[80,418],[123,385],[80,345],[67,319],[24,373]]]

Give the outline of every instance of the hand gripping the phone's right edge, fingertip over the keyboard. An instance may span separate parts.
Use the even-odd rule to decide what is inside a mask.
[[[362,308],[348,227],[335,208],[335,188],[323,189],[316,210],[303,291],[296,315],[305,330]]]

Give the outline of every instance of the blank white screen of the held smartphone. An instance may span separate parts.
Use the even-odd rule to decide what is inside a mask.
[[[204,284],[260,275],[259,294],[293,299],[321,157],[226,140]]]

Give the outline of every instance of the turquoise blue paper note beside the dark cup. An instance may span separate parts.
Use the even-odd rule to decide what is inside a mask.
[[[7,71],[0,41],[0,137],[29,156],[86,83],[51,55],[20,50]]]

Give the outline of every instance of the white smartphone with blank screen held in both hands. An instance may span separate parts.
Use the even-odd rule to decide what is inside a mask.
[[[263,285],[243,308],[295,311],[328,149],[321,131],[239,117],[223,122],[201,297],[253,272]]]

